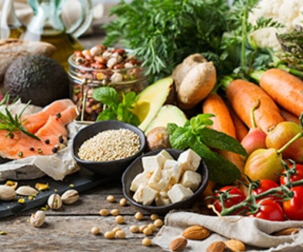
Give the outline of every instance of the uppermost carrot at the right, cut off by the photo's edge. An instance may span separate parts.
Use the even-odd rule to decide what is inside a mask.
[[[279,105],[300,116],[303,112],[303,81],[281,69],[269,69],[261,77],[260,86]]]

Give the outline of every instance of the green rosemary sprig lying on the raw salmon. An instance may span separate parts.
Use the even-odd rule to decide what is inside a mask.
[[[24,134],[26,134],[27,136],[32,137],[32,138],[34,138],[38,141],[41,141],[37,136],[28,132],[22,125],[22,123],[26,119],[22,120],[21,116],[24,113],[25,109],[30,104],[30,101],[24,106],[24,108],[22,109],[22,111],[18,115],[15,114],[15,116],[13,116],[11,114],[11,112],[9,111],[9,109],[8,109],[9,100],[10,100],[10,96],[8,94],[6,94],[5,97],[3,98],[3,100],[0,102],[0,105],[6,104],[5,113],[0,111],[0,130],[6,130],[6,131],[9,132],[6,135],[6,137],[14,136],[13,132],[21,131]],[[13,103],[14,102],[16,102],[16,100],[14,100]]]

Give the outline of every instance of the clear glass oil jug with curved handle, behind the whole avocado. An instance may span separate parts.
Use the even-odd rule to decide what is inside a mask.
[[[28,0],[33,9],[33,18],[22,37],[24,40],[44,41],[56,46],[53,58],[67,71],[68,57],[83,46],[77,37],[86,31],[92,21],[91,0],[81,0],[80,19],[70,28],[66,28],[61,18],[65,0]]]

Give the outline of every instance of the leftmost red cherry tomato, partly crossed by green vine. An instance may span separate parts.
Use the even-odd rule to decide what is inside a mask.
[[[234,206],[234,205],[236,205],[236,204],[238,204],[238,203],[240,203],[240,202],[242,202],[243,200],[246,199],[245,195],[243,194],[243,192],[239,188],[237,188],[235,186],[230,186],[230,185],[227,185],[227,186],[224,186],[224,187],[220,188],[218,190],[218,193],[215,194],[215,197],[219,197],[219,195],[220,195],[219,192],[224,193],[228,190],[230,190],[229,194],[233,195],[234,197],[226,199],[224,201],[225,208],[232,207],[232,206]],[[214,202],[215,202],[216,210],[221,213],[221,211],[222,211],[221,202],[218,201],[218,200],[215,200]]]

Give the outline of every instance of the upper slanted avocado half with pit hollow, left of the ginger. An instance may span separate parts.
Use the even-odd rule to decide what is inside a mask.
[[[138,128],[142,131],[146,130],[166,102],[173,89],[173,82],[171,77],[161,79],[138,94],[138,100],[134,104],[133,113],[139,117],[141,123]]]

